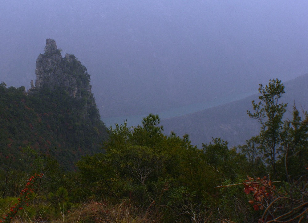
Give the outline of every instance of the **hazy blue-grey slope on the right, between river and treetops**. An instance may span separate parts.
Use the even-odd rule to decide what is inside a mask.
[[[286,81],[281,101],[288,103],[285,118],[290,117],[294,101],[297,108],[308,109],[308,74]],[[260,126],[256,120],[250,119],[247,110],[252,111],[251,101],[258,101],[258,94],[228,104],[209,108],[191,115],[163,119],[165,134],[174,131],[177,135],[189,134],[193,144],[201,146],[215,137],[221,137],[230,146],[245,143],[245,140],[257,135]]]

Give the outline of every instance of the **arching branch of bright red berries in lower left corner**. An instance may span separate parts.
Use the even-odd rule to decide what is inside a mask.
[[[44,174],[34,174],[34,176],[31,176],[26,183],[25,188],[20,192],[20,196],[18,198],[18,203],[14,204],[10,207],[10,212],[7,213],[4,217],[2,217],[2,220],[0,220],[0,223],[8,223],[12,220],[12,218],[17,214],[18,210],[23,209],[23,206],[29,206],[29,199],[30,195],[34,193],[34,183],[37,179],[40,179],[43,177]]]

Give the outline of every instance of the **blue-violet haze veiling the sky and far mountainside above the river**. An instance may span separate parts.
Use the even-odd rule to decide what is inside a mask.
[[[91,75],[103,117],[146,114],[308,72],[308,1],[0,3],[0,81],[30,88],[46,38]]]

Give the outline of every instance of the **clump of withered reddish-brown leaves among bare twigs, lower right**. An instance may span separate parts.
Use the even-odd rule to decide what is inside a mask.
[[[249,200],[248,203],[253,205],[255,211],[263,210],[265,201],[272,199],[275,186],[272,186],[272,182],[266,177],[254,179],[248,176],[248,180],[245,182],[244,192],[253,195],[253,200]]]

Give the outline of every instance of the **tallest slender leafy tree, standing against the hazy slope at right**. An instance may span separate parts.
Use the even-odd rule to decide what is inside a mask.
[[[279,99],[285,93],[285,87],[278,79],[270,80],[265,87],[262,84],[259,85],[260,101],[255,103],[253,100],[254,113],[247,111],[247,114],[250,118],[257,119],[261,124],[258,137],[260,149],[275,175],[277,158],[282,152],[280,143],[284,138],[282,117],[286,112],[287,104],[280,103]]]

